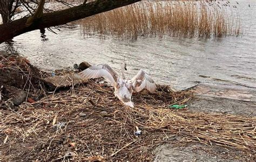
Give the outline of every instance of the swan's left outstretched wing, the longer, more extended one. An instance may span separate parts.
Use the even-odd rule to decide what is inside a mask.
[[[93,65],[78,73],[78,75],[82,79],[100,78],[102,76],[105,76],[105,78],[107,78],[112,85],[114,85],[114,83],[117,83],[118,79],[117,73],[114,72],[113,69],[107,64]]]

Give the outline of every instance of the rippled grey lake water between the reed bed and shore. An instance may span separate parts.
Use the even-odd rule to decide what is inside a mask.
[[[106,63],[120,72],[123,61],[131,78],[143,68],[157,83],[184,89],[199,82],[256,88],[256,2],[239,2],[244,35],[218,39],[139,38],[119,40],[89,38],[80,26],[54,34],[39,30],[14,38],[14,48],[45,71],[82,61]],[[235,2],[233,2],[235,3]],[[250,8],[248,5],[250,4]],[[0,50],[8,45],[0,44]],[[206,78],[207,77],[207,78]]]

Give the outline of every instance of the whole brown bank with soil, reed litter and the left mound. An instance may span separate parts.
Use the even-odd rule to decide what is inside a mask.
[[[153,94],[135,93],[136,106],[129,108],[103,79],[52,90],[43,82],[50,75],[24,58],[1,56],[0,65],[1,84],[26,93],[15,105],[17,95],[2,90],[0,161],[255,158],[254,112],[245,116],[197,109],[194,89],[158,85]],[[70,72],[56,75],[65,73]],[[172,104],[188,107],[171,109]],[[219,148],[224,156],[215,155]]]

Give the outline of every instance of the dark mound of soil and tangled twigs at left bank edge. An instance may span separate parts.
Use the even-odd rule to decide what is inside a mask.
[[[1,53],[0,53],[1,54]],[[35,101],[44,96],[42,78],[47,74],[33,67],[29,60],[17,55],[0,55],[0,108],[15,108],[31,98]]]

